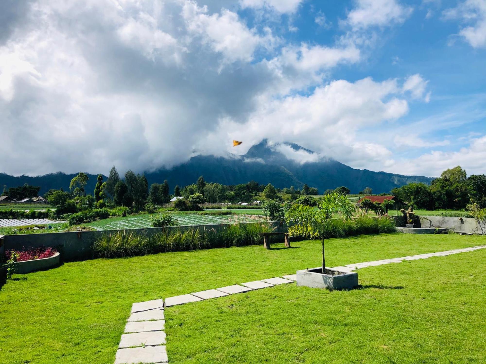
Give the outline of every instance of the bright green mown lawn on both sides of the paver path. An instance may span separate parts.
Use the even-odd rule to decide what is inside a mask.
[[[486,244],[484,236],[329,239],[329,266]],[[320,243],[66,263],[0,289],[0,363],[113,363],[133,302],[295,273]],[[484,363],[486,250],[359,270],[350,292],[268,288],[166,312],[170,363]],[[481,356],[483,355],[483,356]],[[390,360],[387,359],[387,356]]]

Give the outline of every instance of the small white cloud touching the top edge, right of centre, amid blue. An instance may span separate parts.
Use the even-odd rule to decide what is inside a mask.
[[[354,29],[401,24],[413,11],[397,0],[355,0],[355,3],[356,7],[347,14],[347,23]]]

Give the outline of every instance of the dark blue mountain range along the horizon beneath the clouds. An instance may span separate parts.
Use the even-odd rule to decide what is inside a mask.
[[[288,158],[286,156],[288,153],[283,153],[282,150],[295,152],[308,162],[300,163]],[[8,187],[16,187],[29,183],[41,186],[41,194],[50,188],[63,187],[64,190],[68,190],[69,182],[75,175],[57,172],[37,177],[13,177],[0,173],[0,187],[5,184]],[[145,175],[149,184],[167,180],[171,192],[176,184],[182,187],[194,183],[199,176],[204,176],[207,182],[239,184],[253,180],[262,184],[272,183],[279,188],[290,186],[301,188],[304,183],[307,183],[310,187],[317,187],[319,193],[339,186],[347,186],[351,193],[358,193],[365,187],[371,187],[373,193],[382,193],[409,182],[429,184],[433,180],[433,178],[423,176],[403,176],[367,169],[354,169],[332,159],[319,159],[312,150],[294,143],[270,146],[266,140],[251,147],[243,156],[231,154],[224,158],[198,155],[181,165],[148,172]],[[93,191],[95,184],[96,175],[89,175],[87,192]]]

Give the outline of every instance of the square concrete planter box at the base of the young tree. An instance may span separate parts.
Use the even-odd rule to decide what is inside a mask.
[[[297,270],[297,285],[311,288],[352,289],[358,285],[358,273],[341,272],[326,267],[337,275],[322,274],[322,267]]]

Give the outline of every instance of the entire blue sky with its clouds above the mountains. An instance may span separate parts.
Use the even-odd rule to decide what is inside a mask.
[[[486,0],[19,0],[6,10],[4,172],[153,170],[262,139],[302,163],[486,172]]]

